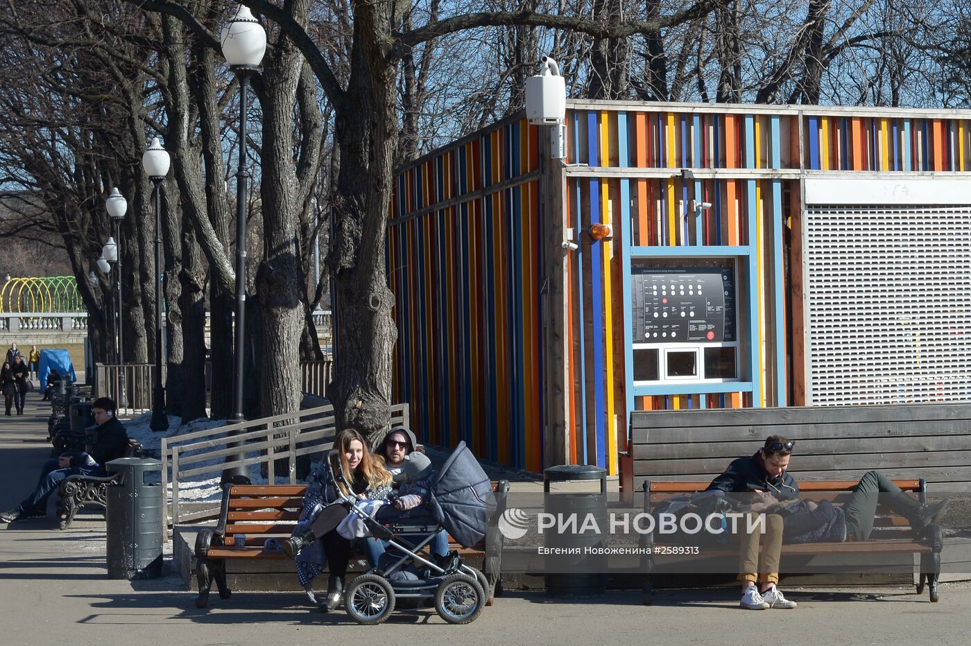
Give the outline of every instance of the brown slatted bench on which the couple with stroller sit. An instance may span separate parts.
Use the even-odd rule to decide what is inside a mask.
[[[306,485],[223,487],[217,526],[196,534],[196,579],[199,584],[199,596],[195,599],[197,608],[206,607],[214,581],[219,598],[230,598],[231,591],[226,584],[227,561],[286,560],[282,551],[267,550],[264,544],[269,538],[282,542],[290,536],[293,526],[300,518],[306,490]],[[508,492],[509,482],[493,482],[492,491],[498,494]],[[500,506],[496,517],[502,513],[504,498],[498,497]],[[236,547],[236,534],[246,534],[245,547]],[[497,527],[490,526],[485,539],[471,548],[462,547],[451,536],[449,540],[450,549],[463,558],[483,559],[483,573],[488,582],[488,589],[485,591],[486,605],[491,605],[493,597],[502,594],[502,534]]]

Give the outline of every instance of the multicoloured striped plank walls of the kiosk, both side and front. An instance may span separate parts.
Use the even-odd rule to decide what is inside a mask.
[[[800,179],[812,173],[969,171],[954,111],[570,101],[562,171],[569,254],[570,462],[618,470],[631,409],[793,403],[786,272]],[[388,276],[394,398],[423,441],[543,466],[540,132],[508,119],[404,169]],[[683,173],[690,171],[690,175]],[[690,211],[692,200],[710,210]],[[690,212],[689,212],[690,211]],[[614,227],[591,241],[590,224]],[[729,257],[739,275],[738,382],[641,388],[626,378],[632,262]]]

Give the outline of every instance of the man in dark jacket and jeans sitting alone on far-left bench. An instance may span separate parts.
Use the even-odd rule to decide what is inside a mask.
[[[65,453],[49,460],[41,469],[37,488],[24,501],[10,511],[0,514],[0,521],[14,523],[30,518],[44,518],[48,514],[48,499],[60,483],[69,475],[104,476],[105,465],[124,456],[128,435],[124,426],[115,418],[115,402],[100,397],[91,404],[97,426],[88,430],[83,452]]]

